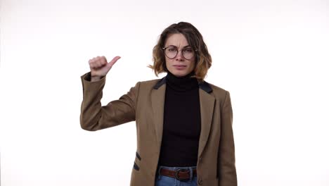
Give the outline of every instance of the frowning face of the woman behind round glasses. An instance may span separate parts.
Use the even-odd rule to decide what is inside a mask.
[[[169,37],[167,37],[166,43],[164,44],[164,47],[167,46],[176,46],[176,49],[178,51],[176,57],[174,58],[168,58],[166,55],[164,55],[166,58],[166,66],[169,72],[177,77],[182,77],[191,73],[195,67],[195,57],[191,59],[186,59],[183,57],[182,52],[184,53],[184,56],[191,55],[191,52],[195,56],[195,51],[193,51],[193,49],[191,49],[191,46],[188,45],[186,37],[182,34],[169,35]],[[170,49],[170,51],[172,51],[172,49]]]

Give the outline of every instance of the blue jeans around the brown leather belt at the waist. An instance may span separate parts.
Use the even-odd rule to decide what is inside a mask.
[[[198,178],[197,176],[190,176],[190,180],[188,181],[180,181],[176,178],[168,177],[165,175],[160,175],[159,171],[160,168],[166,168],[172,171],[176,171],[180,169],[190,169],[190,173],[192,173],[192,168],[196,168],[196,166],[191,167],[168,167],[168,166],[159,166],[157,168],[157,175],[155,176],[155,186],[197,186],[198,185]]]

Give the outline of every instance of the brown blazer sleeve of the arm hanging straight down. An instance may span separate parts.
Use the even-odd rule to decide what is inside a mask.
[[[236,157],[233,139],[233,111],[230,93],[226,97],[221,109],[221,139],[218,154],[219,185],[237,186]]]

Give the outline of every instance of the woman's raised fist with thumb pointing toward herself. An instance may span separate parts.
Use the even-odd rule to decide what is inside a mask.
[[[110,62],[106,61],[105,56],[97,56],[96,58],[90,59],[89,68],[91,72],[91,81],[100,80],[101,77],[108,74],[108,71],[110,71],[115,62],[120,58],[120,56],[115,56]]]

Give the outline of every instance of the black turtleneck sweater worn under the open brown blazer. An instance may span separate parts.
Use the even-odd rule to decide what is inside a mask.
[[[159,165],[196,166],[201,131],[199,85],[193,72],[176,77],[168,72]]]

